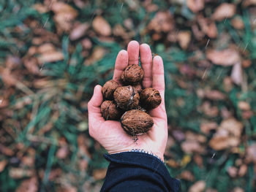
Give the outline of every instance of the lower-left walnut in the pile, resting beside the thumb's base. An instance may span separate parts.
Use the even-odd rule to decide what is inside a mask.
[[[121,110],[118,109],[113,101],[104,101],[100,106],[100,110],[105,120],[118,120],[121,117]]]

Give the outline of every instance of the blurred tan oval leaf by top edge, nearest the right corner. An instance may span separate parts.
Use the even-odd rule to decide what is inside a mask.
[[[214,20],[224,20],[225,18],[232,18],[236,13],[236,5],[235,4],[227,4],[223,3],[219,5],[214,11],[212,18]]]

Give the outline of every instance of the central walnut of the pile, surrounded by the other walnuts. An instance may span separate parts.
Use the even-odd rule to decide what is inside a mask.
[[[118,87],[114,92],[114,99],[122,110],[132,110],[138,108],[140,94],[135,93],[135,89],[131,85]]]

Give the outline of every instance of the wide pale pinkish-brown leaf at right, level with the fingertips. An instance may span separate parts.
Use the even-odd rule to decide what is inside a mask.
[[[234,49],[208,50],[206,52],[206,58],[213,64],[222,66],[232,66],[241,61],[240,54]]]

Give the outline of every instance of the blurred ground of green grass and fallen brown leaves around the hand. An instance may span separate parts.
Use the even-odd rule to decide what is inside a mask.
[[[255,0],[0,0],[0,191],[99,191],[87,104],[135,39],[165,64],[182,191],[256,191]]]

